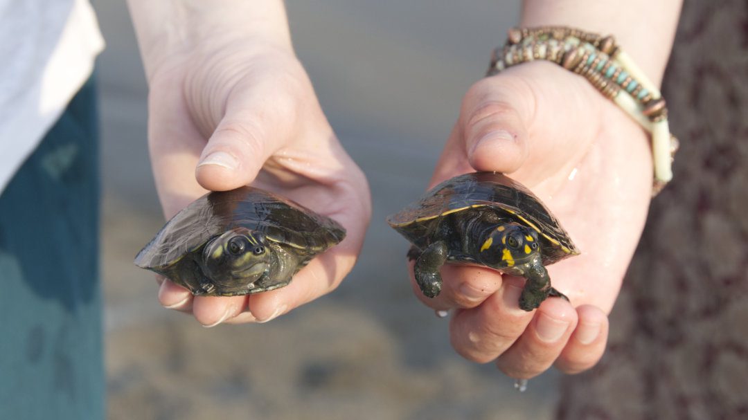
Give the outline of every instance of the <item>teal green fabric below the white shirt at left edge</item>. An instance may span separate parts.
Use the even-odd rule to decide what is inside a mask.
[[[97,141],[88,81],[0,195],[0,419],[104,418]]]

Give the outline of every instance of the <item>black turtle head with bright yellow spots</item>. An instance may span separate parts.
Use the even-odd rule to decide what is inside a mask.
[[[519,223],[506,223],[491,230],[483,241],[480,260],[493,268],[512,268],[540,256],[538,232]]]

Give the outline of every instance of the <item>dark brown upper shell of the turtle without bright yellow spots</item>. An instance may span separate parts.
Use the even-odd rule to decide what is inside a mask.
[[[213,191],[177,213],[138,256],[135,265],[153,271],[177,264],[188,253],[227,230],[245,227],[311,256],[339,243],[346,230],[335,220],[268,191],[242,187]]]

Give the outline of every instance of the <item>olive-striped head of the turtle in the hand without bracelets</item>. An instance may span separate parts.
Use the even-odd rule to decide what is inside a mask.
[[[231,229],[209,241],[203,248],[203,274],[221,285],[251,284],[265,274],[270,250],[262,232]]]

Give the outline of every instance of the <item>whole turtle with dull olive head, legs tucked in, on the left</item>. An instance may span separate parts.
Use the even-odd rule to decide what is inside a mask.
[[[245,186],[213,191],[177,213],[135,257],[194,295],[236,296],[288,285],[346,229],[291,200]]]

